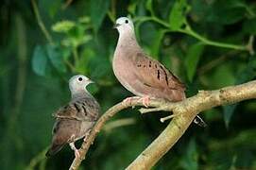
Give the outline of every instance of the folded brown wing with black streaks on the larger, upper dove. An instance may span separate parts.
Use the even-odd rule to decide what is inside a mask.
[[[136,76],[145,85],[157,89],[185,90],[185,86],[158,60],[145,56],[144,53],[136,53],[133,57],[133,65]]]

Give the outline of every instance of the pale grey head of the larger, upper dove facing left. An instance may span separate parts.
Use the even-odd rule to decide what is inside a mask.
[[[134,32],[132,21],[128,17],[120,17],[115,21],[114,28],[121,34],[123,32]]]

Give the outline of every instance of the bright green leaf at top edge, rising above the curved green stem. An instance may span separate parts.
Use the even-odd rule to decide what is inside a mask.
[[[178,30],[182,25],[186,24],[186,10],[188,8],[186,0],[178,0],[169,15],[170,27],[173,30]]]

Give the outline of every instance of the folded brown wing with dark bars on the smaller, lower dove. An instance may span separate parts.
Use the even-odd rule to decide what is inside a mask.
[[[79,121],[96,121],[99,113],[99,105],[92,98],[77,98],[66,106],[61,107],[54,117],[76,119]]]

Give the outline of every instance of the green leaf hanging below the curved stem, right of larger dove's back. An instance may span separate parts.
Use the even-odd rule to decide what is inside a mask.
[[[193,80],[193,77],[196,73],[197,63],[203,53],[204,45],[200,42],[195,43],[190,46],[187,52],[187,56],[185,59],[185,66],[187,71],[187,76],[190,81]]]

